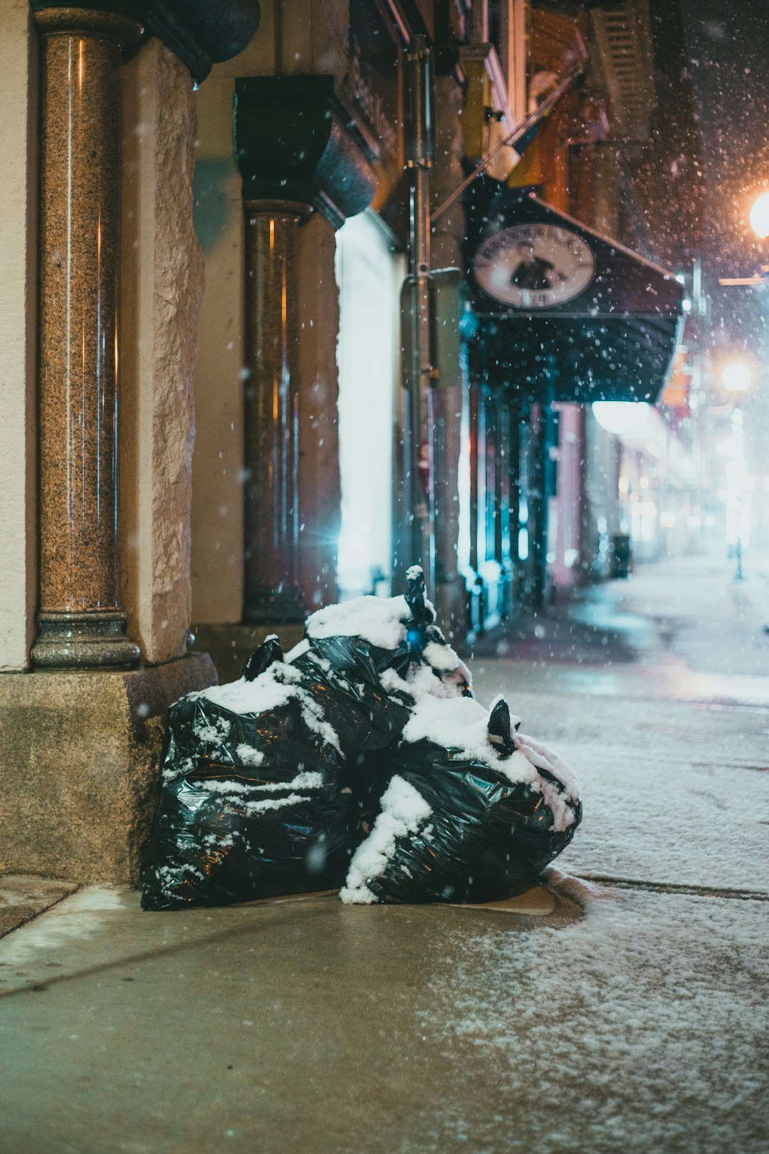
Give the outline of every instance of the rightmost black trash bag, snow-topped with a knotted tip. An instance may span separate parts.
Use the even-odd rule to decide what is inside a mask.
[[[346,902],[481,902],[531,885],[581,819],[576,782],[499,699],[421,696]]]

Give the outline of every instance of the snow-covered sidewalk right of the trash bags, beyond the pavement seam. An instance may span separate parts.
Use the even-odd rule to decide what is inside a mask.
[[[564,868],[769,893],[769,560],[751,570],[649,565],[477,646],[478,697],[504,684],[580,779]]]

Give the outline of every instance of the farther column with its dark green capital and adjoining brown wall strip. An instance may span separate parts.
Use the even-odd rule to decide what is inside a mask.
[[[249,373],[243,616],[300,622],[336,591],[333,230],[370,203],[376,175],[331,75],[236,78],[234,129]]]

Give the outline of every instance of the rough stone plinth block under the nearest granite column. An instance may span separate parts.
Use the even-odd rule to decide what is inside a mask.
[[[205,653],[125,673],[0,674],[0,874],[136,884],[165,712],[216,680]]]

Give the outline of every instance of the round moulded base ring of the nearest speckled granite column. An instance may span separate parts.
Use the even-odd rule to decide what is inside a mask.
[[[39,636],[32,646],[38,669],[126,668],[140,649],[126,637],[126,614],[39,613]]]

